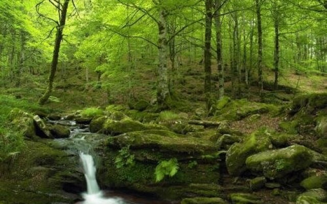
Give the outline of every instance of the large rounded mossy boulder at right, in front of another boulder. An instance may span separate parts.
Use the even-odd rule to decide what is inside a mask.
[[[246,159],[246,167],[262,172],[269,179],[281,178],[288,173],[305,169],[312,163],[308,148],[293,145],[282,149],[260,152]]]

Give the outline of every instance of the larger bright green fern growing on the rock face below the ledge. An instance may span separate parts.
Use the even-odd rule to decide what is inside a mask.
[[[172,177],[178,172],[179,166],[176,158],[170,159],[169,161],[161,161],[155,168],[156,182],[160,182],[166,175]]]

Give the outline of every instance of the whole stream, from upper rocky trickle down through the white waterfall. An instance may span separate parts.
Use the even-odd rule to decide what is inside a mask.
[[[83,168],[87,192],[82,193],[83,201],[76,204],[167,204],[167,202],[145,198],[120,191],[101,190],[97,178],[97,155],[93,145],[102,135],[90,133],[88,125],[77,124],[71,120],[49,120],[51,124],[68,126],[71,135],[66,139],[55,139],[58,143],[69,145],[68,151],[78,154]],[[92,142],[91,142],[92,141]]]

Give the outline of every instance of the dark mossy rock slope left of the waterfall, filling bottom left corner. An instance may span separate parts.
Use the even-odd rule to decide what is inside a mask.
[[[76,160],[75,160],[76,159]],[[63,191],[67,185],[61,173],[78,174],[75,184],[85,186],[83,173],[78,172],[78,159],[42,142],[26,141],[12,163],[2,164],[0,170],[0,200],[7,204],[74,203],[78,196]],[[81,189],[80,192],[86,189]],[[79,192],[79,193],[80,193]]]

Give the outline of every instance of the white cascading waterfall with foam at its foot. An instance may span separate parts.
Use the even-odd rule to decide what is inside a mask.
[[[97,168],[91,155],[80,152],[80,158],[83,164],[84,176],[87,183],[87,193],[83,194],[83,204],[124,204],[121,198],[105,198],[100,191],[96,172]]]

